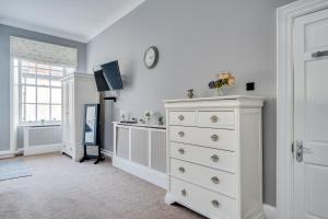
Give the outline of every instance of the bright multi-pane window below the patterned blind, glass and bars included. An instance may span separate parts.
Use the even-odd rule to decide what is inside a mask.
[[[61,78],[74,68],[13,57],[17,76],[20,123],[60,123]]]

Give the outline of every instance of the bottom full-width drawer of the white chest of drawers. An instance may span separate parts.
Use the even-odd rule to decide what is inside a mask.
[[[208,217],[236,218],[235,199],[210,192],[199,186],[171,177],[171,193],[183,205],[207,212]]]

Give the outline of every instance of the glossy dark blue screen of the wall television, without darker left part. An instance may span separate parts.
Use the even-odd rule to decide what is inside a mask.
[[[104,77],[110,90],[121,90],[122,82],[120,78],[120,71],[118,67],[118,61],[112,61],[102,65]]]

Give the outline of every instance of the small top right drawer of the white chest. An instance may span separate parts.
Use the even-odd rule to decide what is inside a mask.
[[[235,125],[233,111],[199,112],[198,116],[200,127],[233,127]]]

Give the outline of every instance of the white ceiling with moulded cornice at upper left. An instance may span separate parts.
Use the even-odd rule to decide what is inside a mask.
[[[0,23],[86,43],[144,0],[0,0]]]

